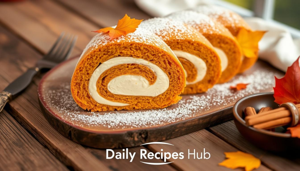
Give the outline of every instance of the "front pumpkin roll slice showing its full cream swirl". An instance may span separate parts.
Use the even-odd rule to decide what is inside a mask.
[[[185,73],[172,50],[142,28],[110,39],[97,34],[71,80],[75,102],[90,111],[165,108],[178,102]]]

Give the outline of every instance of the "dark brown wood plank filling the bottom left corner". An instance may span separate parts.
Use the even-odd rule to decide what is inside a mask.
[[[68,170],[6,111],[0,137],[0,170]]]

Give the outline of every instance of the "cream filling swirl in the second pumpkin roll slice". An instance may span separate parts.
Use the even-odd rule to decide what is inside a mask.
[[[196,55],[192,55],[190,53],[183,52],[183,51],[173,50],[173,52],[175,53],[175,55],[177,57],[182,57],[182,58],[190,61],[191,63],[193,63],[193,65],[197,69],[196,79],[192,82],[186,81],[187,85],[188,84],[195,84],[195,83],[201,81],[205,77],[207,67],[206,67],[205,62],[201,58],[197,57]],[[185,76],[187,76],[187,72],[185,70],[184,70],[184,72],[185,72]]]

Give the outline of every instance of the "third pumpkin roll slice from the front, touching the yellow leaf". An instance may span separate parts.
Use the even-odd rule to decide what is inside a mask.
[[[227,82],[238,73],[241,48],[227,28],[208,16],[191,10],[172,13],[167,18],[192,26],[212,44],[221,60],[222,74],[218,83]]]

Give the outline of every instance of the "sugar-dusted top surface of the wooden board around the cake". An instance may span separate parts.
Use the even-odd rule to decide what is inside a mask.
[[[246,89],[233,91],[230,86],[238,83],[250,83]],[[49,87],[49,85],[47,85]],[[207,112],[211,108],[224,108],[237,99],[253,93],[259,93],[274,86],[274,73],[268,70],[256,70],[249,75],[235,76],[233,81],[217,84],[207,93],[186,95],[178,104],[165,109],[141,111],[88,112],[80,108],[73,100],[70,83],[65,80],[59,87],[47,90],[43,94],[48,108],[55,110],[63,120],[77,126],[106,129],[143,128],[166,125],[189,119]]]

